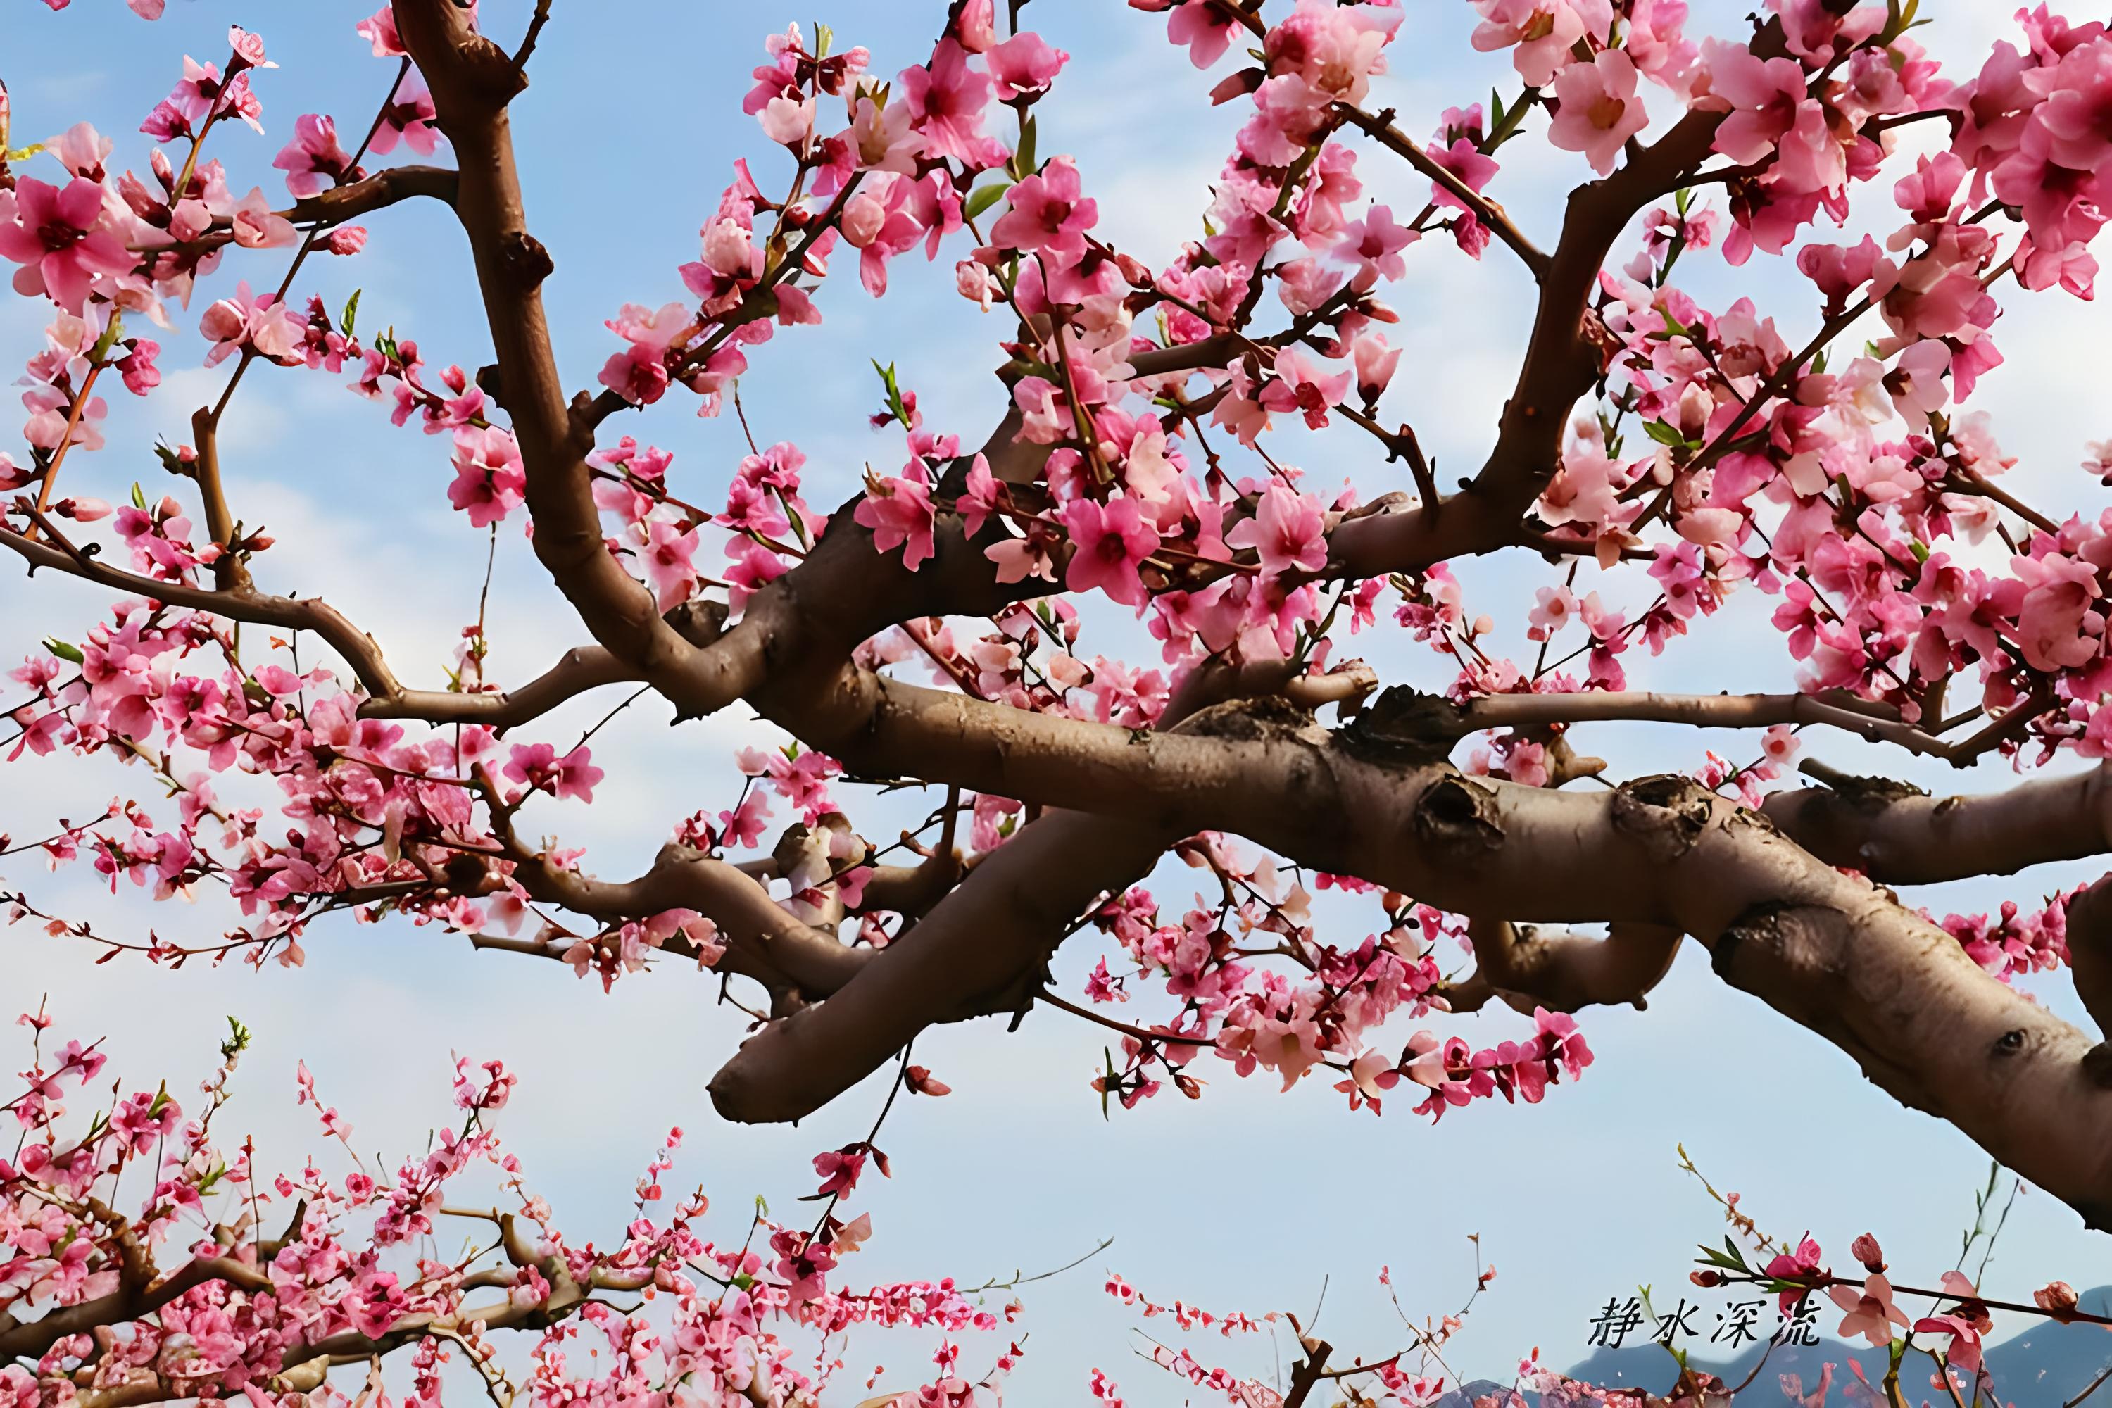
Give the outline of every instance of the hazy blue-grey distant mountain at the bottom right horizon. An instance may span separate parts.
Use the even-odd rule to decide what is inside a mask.
[[[2104,1315],[2108,1313],[2106,1307],[2112,1307],[2112,1286],[2099,1286],[2082,1294],[2082,1309]],[[2017,1315],[2000,1315],[1996,1324],[2002,1319],[2015,1324]],[[1755,1406],[1787,1404],[1783,1374],[1802,1378],[1804,1391],[1810,1393],[1818,1387],[1825,1366],[1833,1364],[1833,1391],[1827,1402],[1837,1408],[1848,1406],[1842,1387],[1854,1383],[1854,1374],[1848,1370],[1850,1359],[1863,1366],[1863,1374],[1871,1385],[1884,1378],[1888,1362],[1884,1349],[1871,1349],[1863,1343],[1844,1345],[1840,1340],[1823,1340],[1818,1345],[1780,1345],[1774,1353],[1766,1355],[1766,1366],[1761,1366],[1766,1349],[1766,1345],[1753,1345],[1732,1359],[1709,1359],[1702,1353],[1690,1351],[1687,1362],[1700,1372],[1715,1374],[1732,1389],[1751,1378],[1740,1400]],[[1996,1395],[2015,1408],[2061,1408],[2061,1404],[2087,1389],[2106,1366],[2112,1366],[2112,1332],[2101,1326],[2040,1321],[2023,1334],[1987,1347],[1987,1372],[1994,1376]],[[1757,1376],[1755,1368],[1759,1368]],[[1949,1395],[1930,1381],[1932,1368],[1922,1355],[1907,1359],[1901,1368],[1901,1391],[1909,1404],[1949,1404]],[[1660,1345],[1643,1343],[1620,1349],[1597,1349],[1567,1372],[1571,1378],[1603,1389],[1641,1387],[1662,1395],[1673,1387],[1679,1370]],[[1453,1389],[1432,1408],[1472,1408],[1474,1400],[1506,1391],[1508,1385],[1476,1378]],[[2104,1408],[2112,1408],[2112,1385],[2106,1385],[2104,1393]],[[1527,1402],[1533,1402],[1538,1408],[1535,1400],[1538,1395],[1527,1395]]]

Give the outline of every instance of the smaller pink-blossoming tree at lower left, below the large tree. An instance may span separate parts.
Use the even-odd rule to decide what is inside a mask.
[[[836,1262],[872,1233],[870,1216],[836,1216],[855,1176],[828,1188],[813,1226],[743,1214],[739,1241],[708,1239],[710,1199],[663,1184],[680,1129],[638,1180],[617,1245],[574,1243],[492,1127],[515,1085],[503,1062],[458,1060],[456,1123],[395,1169],[355,1153],[351,1125],[302,1066],[298,1100],[315,1106],[344,1169],[310,1159],[272,1174],[251,1163],[247,1140],[213,1134],[249,1043],[241,1024],[230,1022],[199,1108],[167,1085],[125,1093],[120,1083],[87,1117],[72,1106],[99,1085],[99,1043],[55,1047],[42,1011],[21,1024],[32,1060],[21,1093],[0,1104],[21,1134],[0,1159],[0,1402],[19,1408],[95,1395],[344,1408],[355,1400],[332,1364],[378,1366],[397,1351],[410,1362],[408,1404],[439,1404],[452,1372],[545,1406],[625,1404],[678,1385],[695,1404],[813,1404],[843,1366],[830,1343],[853,1328],[934,1332],[950,1364],[957,1336],[1001,1332],[1020,1311],[1018,1300],[986,1309],[950,1277],[843,1286]],[[490,1222],[496,1237],[446,1260],[433,1233],[458,1218]],[[617,1292],[644,1302],[621,1311]],[[507,1332],[532,1334],[526,1372],[501,1362]],[[942,1370],[902,1402],[963,1402],[1018,1353],[1012,1345],[980,1385]]]

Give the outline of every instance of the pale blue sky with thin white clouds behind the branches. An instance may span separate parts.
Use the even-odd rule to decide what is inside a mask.
[[[1466,49],[1464,0],[1409,6],[1409,32],[1392,51],[1396,72],[1379,80],[1373,106],[1398,108],[1402,127],[1421,133],[1442,108],[1481,99],[1495,82],[1510,87],[1500,59]],[[268,163],[294,116],[334,112],[342,127],[357,129],[389,84],[393,68],[372,59],[351,32],[367,8],[338,0],[171,0],[167,17],[150,25],[116,0],[76,0],[65,13],[17,4],[0,53],[15,141],[87,118],[118,139],[116,165],[144,167],[139,118],[171,87],[184,53],[220,59],[226,25],[239,21],[266,38],[281,70],[258,80],[268,137],[237,129],[215,152],[237,190],[262,184],[277,198],[283,188]],[[486,23],[511,36],[526,8],[520,0],[486,0]],[[1696,4],[1694,23],[1728,32],[1742,8]],[[1998,8],[1935,0],[1924,11],[1939,23],[1924,34],[1939,55],[1970,55],[2002,30]],[[674,270],[697,258],[697,224],[737,156],[756,158],[765,186],[777,179],[767,141],[739,114],[769,30],[819,17],[834,25],[838,44],[866,44],[874,68],[893,72],[929,51],[942,13],[938,0],[834,0],[819,13],[777,0],[558,0],[513,122],[530,226],[555,258],[545,296],[568,380],[591,384],[617,346],[602,319],[621,302],[682,296]],[[1026,19],[1073,55],[1041,108],[1041,150],[1079,158],[1100,203],[1100,232],[1164,260],[1198,232],[1233,110],[1206,108],[1210,80],[1164,42],[1162,21],[1119,0],[1037,0]],[[1584,179],[1582,163],[1548,150],[1538,135],[1504,154],[1500,198],[1550,243],[1561,192]],[[1364,158],[1364,177],[1381,198],[1392,192],[1396,207],[1421,201],[1421,186],[1390,171],[1381,156]],[[1882,192],[1873,194],[1882,201]],[[296,293],[319,291],[340,306],[359,287],[361,327],[395,325],[435,365],[488,361],[452,217],[410,205],[367,224],[367,253],[313,260]],[[1447,479],[1481,462],[1529,323],[1525,281],[1500,253],[1470,264],[1440,243],[1413,249],[1411,274],[1390,300],[1409,350],[1388,407],[1415,422]],[[822,300],[822,329],[794,329],[752,357],[741,384],[750,422],[758,439],[794,439],[807,452],[809,500],[817,507],[843,500],[868,460],[883,473],[900,462],[900,439],[866,426],[876,403],[872,357],[902,367],[929,424],[980,439],[999,414],[1003,393],[991,369],[1001,361],[993,344],[1005,329],[953,291],[950,258],[936,268],[900,260],[895,289],[879,304],[851,279],[836,279]],[[275,283],[281,268],[281,255],[270,255],[243,272]],[[1711,304],[1751,293],[1780,310],[1791,342],[1802,342],[1812,308],[1791,270],[1766,260],[1728,270],[1700,258],[1681,274]],[[163,488],[152,439],[188,439],[190,410],[222,380],[199,369],[194,315],[180,319],[182,336],[163,338],[163,391],[144,403],[112,399],[110,448],[70,462],[68,473],[80,475],[76,488],[93,486],[106,498],[129,492],[133,479],[150,492]],[[2085,338],[2101,336],[2085,323],[2091,315],[2059,293],[2015,304],[1998,327],[2011,363],[1977,401],[1996,412],[2002,441],[2023,456],[2013,486],[2059,513],[2091,502],[2095,486],[2074,464],[2087,439],[2108,433],[2085,395],[2091,361],[2074,355],[2095,346]],[[36,348],[40,323],[21,300],[0,302],[0,340],[11,359]],[[437,684],[458,629],[475,619],[484,540],[448,511],[446,441],[393,431],[342,380],[251,374],[222,443],[230,496],[245,521],[262,521],[281,543],[262,562],[266,587],[329,597],[389,648],[399,673]],[[743,452],[731,418],[695,420],[682,397],[650,418],[619,418],[608,433],[636,433],[674,450],[676,479],[701,502],[724,492]],[[1299,454],[1318,483],[1341,475],[1364,490],[1402,488],[1398,471],[1343,437],[1301,443]],[[1538,559],[1502,559],[1472,564],[1462,576],[1476,610],[1516,629],[1531,587],[1548,581],[1538,568]],[[72,583],[32,587],[13,570],[0,574],[0,654],[15,659],[46,633],[78,638],[101,602],[99,591]],[[1764,625],[1766,606],[1742,602],[1728,616],[1721,629],[1679,642],[1660,661],[1630,657],[1635,684],[1787,688],[1789,661]],[[1107,629],[1102,640],[1126,640],[1119,627]],[[517,534],[501,538],[492,640],[490,671],[498,680],[539,671],[585,640]],[[1390,682],[1442,682],[1428,654],[1369,640],[1356,648]],[[539,737],[574,737],[610,703],[574,701]],[[733,745],[771,737],[733,716],[680,730],[665,724],[665,709],[634,709],[596,741],[596,760],[608,768],[600,802],[549,808],[530,825],[589,844],[589,863],[602,874],[631,874],[674,819],[731,802],[724,760]],[[1616,724],[1580,737],[1582,751],[1603,754],[1628,775],[1694,766],[1700,745],[1692,735]],[[1706,745],[1751,751],[1751,739],[1713,737]],[[2000,766],[1968,777],[1916,770],[1840,739],[1812,739],[1812,751],[1837,766],[1907,773],[1932,787],[1992,789],[2006,781]],[[103,760],[8,764],[0,773],[0,830],[17,838],[42,834],[53,817],[99,808],[112,792],[133,785],[133,773]],[[97,895],[87,870],[44,876],[8,861],[6,876],[44,908],[95,918],[114,933],[137,935],[152,925],[207,939],[228,922],[211,899],[194,910],[150,910]],[[2004,897],[2032,903],[2082,878],[2095,878],[2095,870],[2044,868],[1909,899],[1939,914],[1992,908]],[[1168,903],[1185,897],[1183,872],[1162,880]],[[237,1112],[253,1121],[247,1127],[264,1157],[285,1163],[323,1153],[315,1125],[291,1108],[300,1058],[353,1121],[359,1146],[391,1155],[418,1146],[427,1123],[446,1112],[450,1051],[505,1058],[522,1072],[522,1089],[503,1129],[579,1237],[619,1233],[631,1178],[670,1123],[691,1134],[676,1180],[701,1180],[729,1218],[741,1218],[754,1193],[779,1203],[807,1191],[807,1159],[860,1138],[883,1093],[868,1083],[798,1129],[722,1125],[703,1083],[739,1039],[739,1020],[712,1005],[710,979],[676,969],[631,977],[602,996],[558,965],[471,954],[460,937],[395,922],[319,929],[302,971],[152,973],[125,960],[91,967],[93,956],[30,927],[0,933],[0,1001],[34,1005],[51,992],[70,1032],[108,1034],[131,1079],[167,1074],[171,1085],[203,1074],[222,1013],[241,1015],[258,1049]],[[1075,979],[1092,956],[1083,946],[1067,952],[1058,975]],[[2080,1020],[2066,982],[2040,990]],[[1519,1022],[1504,1013],[1447,1030],[1481,1045],[1516,1036]],[[1719,1188],[1747,1193],[1749,1207],[1774,1231],[1810,1226],[1840,1258],[1848,1237],[1875,1231],[1903,1269],[1932,1279],[1951,1264],[1985,1157],[1947,1125],[1901,1110],[1863,1083],[1831,1045],[1728,990],[1698,950],[1681,956],[1647,1013],[1592,1011],[1584,1030],[1599,1062],[1580,1085],[1557,1087],[1540,1108],[1472,1106],[1440,1127],[1404,1108],[1381,1121],[1350,1115],[1322,1083],[1278,1096],[1274,1083],[1236,1081],[1229,1070],[1204,1072],[1212,1085],[1202,1102],[1166,1096],[1102,1119],[1086,1085],[1100,1062],[1096,1030],[1054,1011],[1037,1011],[1014,1036],[997,1024],[938,1030],[919,1043],[917,1060],[950,1081],[955,1096],[904,1102],[889,1121],[881,1142],[893,1155],[895,1178],[864,1195],[876,1237],[855,1273],[1031,1273],[1113,1237],[1105,1254],[1024,1294],[1033,1338],[1016,1385],[1033,1402],[1043,1393],[1081,1395],[1083,1368],[1100,1364],[1132,1402],[1155,1404],[1178,1402],[1178,1385],[1132,1357],[1138,1321],[1100,1294],[1107,1269],[1159,1300],[1181,1296],[1250,1313],[1303,1315],[1326,1286],[1320,1328],[1345,1353],[1377,1357],[1402,1338],[1375,1279],[1379,1267],[1392,1267],[1411,1315],[1438,1315],[1464,1300],[1474,1269],[1466,1237],[1481,1233],[1483,1260],[1493,1260],[1500,1277],[1476,1305],[1453,1364],[1504,1376],[1535,1345],[1557,1364],[1582,1357],[1599,1302],[1645,1281],[1683,1288],[1692,1245],[1721,1233],[1715,1207],[1677,1169],[1677,1142]],[[1987,1288],[2021,1298],[2051,1277],[2112,1281],[2112,1248],[2080,1233],[2066,1207],[2025,1193]],[[866,1353],[862,1347],[853,1366]],[[1274,1362],[1265,1343],[1227,1345],[1214,1336],[1195,1343],[1195,1353],[1223,1355],[1240,1372],[1267,1372]],[[876,1357],[921,1366],[923,1349],[887,1345]],[[972,1349],[967,1362],[982,1357]]]

